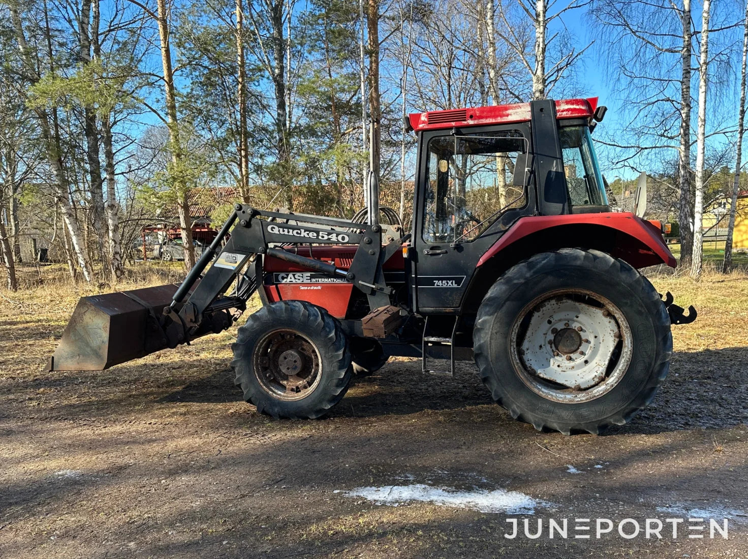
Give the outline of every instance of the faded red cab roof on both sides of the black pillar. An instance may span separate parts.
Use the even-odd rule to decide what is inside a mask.
[[[556,117],[591,118],[598,107],[597,97],[556,101]],[[416,112],[408,115],[414,130],[453,128],[454,126],[485,126],[530,120],[530,103]]]

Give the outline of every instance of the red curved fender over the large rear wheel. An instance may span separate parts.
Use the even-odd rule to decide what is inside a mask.
[[[578,213],[565,216],[527,216],[517,220],[480,257],[477,268],[517,242],[532,239],[536,252],[554,248],[598,248],[634,268],[677,265],[657,227],[633,213]]]

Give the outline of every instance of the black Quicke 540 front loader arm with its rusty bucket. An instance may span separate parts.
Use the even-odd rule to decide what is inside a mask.
[[[266,212],[236,204],[180,286],[82,298],[46,370],[103,370],[228,329],[257,289],[245,268],[258,254],[342,276],[367,296],[372,311],[387,307],[393,291],[384,281],[382,264],[402,245],[401,233],[398,226]],[[358,249],[351,266],[340,269],[282,248],[307,242],[358,245]],[[225,294],[234,281],[236,288]]]

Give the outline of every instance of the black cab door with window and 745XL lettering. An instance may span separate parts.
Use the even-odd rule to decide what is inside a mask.
[[[414,219],[419,311],[459,308],[482,254],[532,213],[530,152],[527,124],[423,133]]]

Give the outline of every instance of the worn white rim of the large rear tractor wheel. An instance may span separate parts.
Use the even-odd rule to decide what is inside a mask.
[[[549,400],[601,397],[625,375],[633,341],[616,305],[586,290],[557,290],[535,299],[512,326],[512,364]]]

